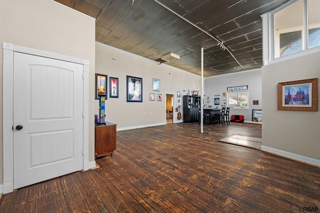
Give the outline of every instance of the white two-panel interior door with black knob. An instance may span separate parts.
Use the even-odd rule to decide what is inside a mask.
[[[82,74],[83,64],[14,52],[14,188],[83,169]]]

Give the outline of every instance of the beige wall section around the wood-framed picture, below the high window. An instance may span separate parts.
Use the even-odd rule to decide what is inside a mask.
[[[308,162],[318,165],[320,165],[320,112],[278,110],[277,83],[319,78],[319,58],[320,52],[316,52],[262,67],[264,149],[303,161],[309,160]]]

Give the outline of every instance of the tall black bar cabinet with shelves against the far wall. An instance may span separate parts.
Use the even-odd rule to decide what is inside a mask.
[[[183,122],[199,120],[200,96],[183,95]]]

